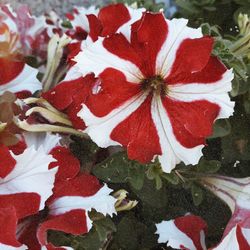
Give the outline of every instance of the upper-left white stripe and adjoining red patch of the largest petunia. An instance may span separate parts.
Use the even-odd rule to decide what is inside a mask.
[[[117,55],[113,54],[117,52]],[[123,57],[119,57],[123,55]],[[126,38],[121,34],[109,38],[99,38],[95,43],[80,52],[74,59],[83,76],[101,74],[107,68],[121,71],[129,82],[138,82],[142,76],[138,65],[141,60]]]

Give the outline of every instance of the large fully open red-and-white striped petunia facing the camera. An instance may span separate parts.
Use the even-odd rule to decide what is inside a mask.
[[[213,39],[185,19],[146,12],[129,37],[99,38],[75,58],[83,76],[97,78],[78,113],[85,132],[142,163],[158,156],[165,172],[196,164],[214,121],[233,113],[232,70],[211,55]]]

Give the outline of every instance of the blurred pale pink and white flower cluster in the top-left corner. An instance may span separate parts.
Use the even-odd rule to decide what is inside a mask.
[[[6,24],[11,34],[17,35],[16,49],[22,50],[25,55],[46,57],[49,39],[62,31],[61,20],[53,17],[55,13],[33,16],[27,5],[21,5],[16,10],[8,4],[0,5],[0,23]]]

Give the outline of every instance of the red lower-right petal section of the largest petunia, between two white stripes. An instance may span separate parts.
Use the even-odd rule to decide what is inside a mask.
[[[205,144],[206,137],[213,132],[213,123],[218,117],[217,104],[201,100],[180,102],[170,98],[162,99],[176,140],[186,148]]]

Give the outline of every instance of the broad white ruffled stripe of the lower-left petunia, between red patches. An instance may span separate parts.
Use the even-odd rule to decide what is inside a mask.
[[[12,153],[12,157],[16,165],[5,178],[0,178],[0,195],[37,193],[41,199],[39,209],[43,209],[54,187],[57,168],[48,169],[54,158],[43,147],[30,147],[20,155]]]

